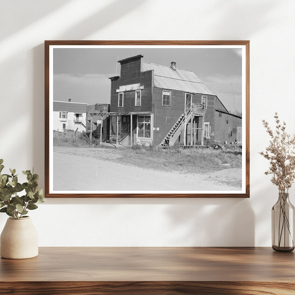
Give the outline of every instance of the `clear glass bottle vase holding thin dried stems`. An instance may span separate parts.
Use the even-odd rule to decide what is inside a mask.
[[[294,206],[288,193],[279,193],[278,201],[271,210],[273,250],[294,250]]]

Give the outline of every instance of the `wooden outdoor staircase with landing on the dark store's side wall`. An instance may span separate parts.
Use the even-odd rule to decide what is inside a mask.
[[[189,109],[185,112],[185,114],[182,114],[177,122],[173,125],[171,130],[168,132],[168,134],[165,136],[165,138],[160,143],[160,147],[167,147],[173,145],[176,140],[178,139],[181,132],[185,129],[186,124],[189,122],[189,120],[192,120],[194,116],[204,116],[205,110],[202,105],[199,104],[192,104]]]

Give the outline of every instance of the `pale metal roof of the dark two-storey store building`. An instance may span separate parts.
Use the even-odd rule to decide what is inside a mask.
[[[142,62],[142,71],[154,70],[154,85],[158,88],[174,89],[215,95],[195,73],[165,65]]]

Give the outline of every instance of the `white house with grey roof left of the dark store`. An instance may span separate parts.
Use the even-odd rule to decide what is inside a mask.
[[[53,130],[86,132],[88,104],[69,101],[53,101]]]

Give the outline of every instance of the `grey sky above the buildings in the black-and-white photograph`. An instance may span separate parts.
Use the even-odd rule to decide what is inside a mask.
[[[119,59],[144,54],[143,61],[193,71],[218,96],[228,110],[241,110],[242,50],[228,48],[54,48],[53,99],[109,103],[111,81],[120,75]],[[231,86],[232,83],[232,86]]]

